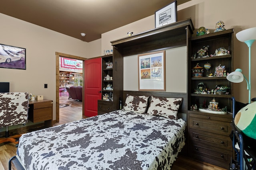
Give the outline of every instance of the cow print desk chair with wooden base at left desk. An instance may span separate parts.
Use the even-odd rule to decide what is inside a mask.
[[[0,143],[12,142],[18,146],[21,135],[9,136],[8,127],[28,122],[28,93],[0,93],[0,128],[6,127],[5,137]]]

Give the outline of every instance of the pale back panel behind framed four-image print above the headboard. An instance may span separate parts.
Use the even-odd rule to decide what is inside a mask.
[[[186,46],[166,50],[166,92],[186,93]],[[124,57],[124,90],[138,91],[138,55]]]

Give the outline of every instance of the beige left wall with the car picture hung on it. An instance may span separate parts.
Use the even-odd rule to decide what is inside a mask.
[[[26,70],[0,68],[0,82],[10,82],[11,92],[29,92],[53,100],[55,120],[55,52],[98,57],[101,55],[100,39],[87,43],[1,13],[0,22],[0,44],[26,48]],[[48,88],[44,88],[44,84],[48,84]]]

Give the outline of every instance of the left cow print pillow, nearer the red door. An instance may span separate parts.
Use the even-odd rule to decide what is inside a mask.
[[[127,95],[124,109],[127,111],[134,111],[137,113],[145,113],[148,105],[149,96],[131,96]]]

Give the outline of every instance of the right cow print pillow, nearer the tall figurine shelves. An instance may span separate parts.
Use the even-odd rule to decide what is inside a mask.
[[[170,119],[178,119],[178,109],[183,98],[151,97],[148,108],[149,115],[162,116]]]

